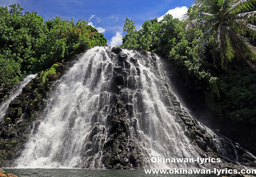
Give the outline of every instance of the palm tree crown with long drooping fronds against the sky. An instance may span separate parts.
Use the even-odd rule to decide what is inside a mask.
[[[256,36],[256,11],[252,11],[256,0],[196,0],[193,9],[196,12],[184,16],[189,31],[195,27],[204,29],[204,33],[195,47],[194,54],[203,53],[210,37],[213,62],[218,57],[222,65],[236,56],[241,56],[251,68],[256,70],[250,60],[256,60],[256,47],[250,44]],[[249,59],[250,60],[249,60]]]

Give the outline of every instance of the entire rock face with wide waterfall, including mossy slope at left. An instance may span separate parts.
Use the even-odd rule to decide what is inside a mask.
[[[54,167],[143,169],[157,166],[144,162],[156,153],[221,158],[221,163],[203,164],[206,168],[256,165],[255,157],[239,144],[200,124],[180,106],[154,53],[98,47],[83,57],[59,84],[53,86],[67,70],[61,63],[45,82],[40,78],[47,72],[11,102],[0,129],[2,166],[30,166],[45,157],[43,165]],[[32,146],[24,148],[25,143]]]

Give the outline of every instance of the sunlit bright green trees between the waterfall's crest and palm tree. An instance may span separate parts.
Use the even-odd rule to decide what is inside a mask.
[[[141,30],[138,31],[135,30],[135,22],[132,20],[126,18],[124,23],[124,31],[127,35],[122,39],[122,47],[127,49],[141,47],[144,50],[168,55],[174,44],[184,36],[181,22],[173,19],[169,14],[165,15],[160,22],[157,22],[157,19],[145,21]]]

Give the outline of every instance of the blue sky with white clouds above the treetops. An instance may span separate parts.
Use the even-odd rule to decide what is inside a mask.
[[[24,11],[37,11],[44,20],[56,16],[67,20],[73,17],[75,22],[80,18],[89,20],[104,34],[108,44],[120,45],[126,17],[134,20],[139,29],[145,20],[161,19],[165,13],[180,17],[193,0],[0,0],[0,6],[15,3]]]

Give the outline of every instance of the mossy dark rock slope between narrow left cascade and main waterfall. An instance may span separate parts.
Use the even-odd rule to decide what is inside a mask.
[[[74,59],[76,59],[76,56]],[[39,72],[9,104],[9,111],[0,127],[0,165],[11,167],[20,156],[31,130],[35,133],[40,122],[36,118],[47,104],[46,98],[52,85],[65,74],[68,63],[55,63]],[[53,71],[52,71],[53,70]]]

